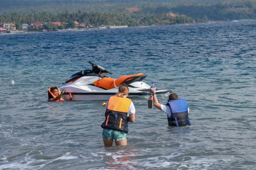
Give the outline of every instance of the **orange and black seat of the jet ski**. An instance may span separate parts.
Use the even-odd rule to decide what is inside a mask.
[[[138,74],[133,74],[133,75],[123,75],[120,76],[118,79],[114,79],[111,77],[105,77],[102,79],[99,79],[95,82],[93,82],[94,85],[104,88],[106,90],[118,87],[121,84],[126,84],[129,85],[135,81],[142,80],[146,77],[147,75],[144,75],[143,73],[138,73]]]

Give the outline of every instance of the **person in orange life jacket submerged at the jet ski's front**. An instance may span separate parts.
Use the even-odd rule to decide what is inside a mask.
[[[65,100],[62,98],[62,94],[65,93],[65,89],[60,92],[59,87],[54,86],[48,89],[48,101],[49,102],[64,102]],[[69,100],[72,100],[72,94],[69,92]]]

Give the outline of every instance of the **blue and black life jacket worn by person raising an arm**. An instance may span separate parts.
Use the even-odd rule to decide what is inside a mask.
[[[191,125],[188,117],[188,104],[185,99],[170,100],[168,103],[172,116],[168,117],[169,126]]]

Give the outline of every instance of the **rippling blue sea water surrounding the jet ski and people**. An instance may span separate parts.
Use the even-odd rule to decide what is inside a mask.
[[[188,101],[189,127],[133,99],[128,145],[105,148],[102,102],[47,102],[91,68],[143,72]],[[254,170],[256,20],[0,34],[0,170]],[[166,95],[158,95],[165,104]]]

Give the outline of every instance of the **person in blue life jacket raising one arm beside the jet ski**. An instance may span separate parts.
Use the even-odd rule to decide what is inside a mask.
[[[150,88],[150,92],[153,94],[154,106],[167,114],[169,126],[191,125],[188,117],[190,109],[185,99],[178,99],[176,93],[171,93],[169,95],[168,103],[163,105],[158,102],[156,88]]]

